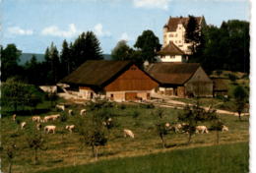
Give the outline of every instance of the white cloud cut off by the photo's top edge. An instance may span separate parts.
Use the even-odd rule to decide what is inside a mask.
[[[168,10],[168,3],[171,0],[133,0],[133,4],[137,8],[159,8],[162,10]]]

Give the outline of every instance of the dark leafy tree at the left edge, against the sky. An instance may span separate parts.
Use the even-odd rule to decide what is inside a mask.
[[[6,48],[1,46],[1,82],[19,75],[21,68],[18,62],[20,61],[21,53],[22,51],[15,44],[8,44]]]

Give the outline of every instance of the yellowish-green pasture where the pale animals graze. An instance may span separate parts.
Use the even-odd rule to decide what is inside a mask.
[[[28,144],[26,144],[26,140],[23,135],[24,132],[20,130],[20,126],[15,124],[10,116],[3,117],[1,119],[2,144],[7,144],[9,141],[16,141],[17,146],[19,148],[22,148],[17,154],[17,156],[14,158],[13,172],[37,172],[51,170],[54,168],[61,168],[64,166],[83,165],[95,161],[95,159],[92,157],[91,147],[83,146],[80,143],[80,137],[78,133],[69,134],[66,131],[64,131],[65,125],[74,124],[74,122],[77,119],[76,116],[79,116],[79,111],[82,108],[84,108],[82,105],[70,105],[68,109],[73,109],[75,112],[75,116],[69,117],[67,122],[56,121],[44,124],[56,125],[57,133],[43,135],[45,137],[46,145],[48,146],[48,148],[47,150],[40,150],[38,152],[38,165],[32,164],[33,150],[28,147]],[[189,145],[185,145],[185,143],[187,142],[186,134],[172,133],[166,136],[166,144],[169,147],[163,149],[161,148],[160,138],[157,136],[155,131],[156,115],[152,114],[152,112],[154,111],[153,108],[147,108],[145,106],[142,107],[138,105],[126,105],[114,107],[110,109],[110,111],[113,111],[116,114],[116,116],[113,117],[113,121],[115,122],[116,127],[114,127],[110,131],[110,134],[108,135],[107,144],[105,146],[101,146],[98,150],[99,164],[106,164],[100,161],[109,158],[114,159],[119,157],[146,155],[162,151],[182,149],[186,147],[216,144],[215,132],[210,132],[209,134],[195,135],[192,138],[192,144]],[[138,112],[139,116],[133,116],[135,115],[134,112]],[[57,111],[52,109],[50,112],[40,114],[40,116],[49,115],[53,113],[57,113]],[[164,121],[170,123],[175,122],[178,113],[181,113],[181,110],[165,108]],[[87,116],[92,116],[92,112],[89,112]],[[28,122],[28,126],[33,126],[31,116],[18,115],[18,117],[21,119],[21,121]],[[238,121],[237,117],[228,115],[222,115],[222,119],[224,120],[225,125],[229,128],[229,132],[221,133],[220,144],[245,142],[246,145],[249,139],[249,117],[243,117],[243,121],[241,122]],[[209,123],[204,123],[204,125],[207,125],[208,127],[210,126]],[[135,139],[123,138],[122,130],[124,128],[132,130],[135,134]],[[62,135],[61,132],[66,133]],[[244,153],[245,149],[243,151],[241,150],[241,152],[243,152],[243,154],[245,155],[247,153]],[[164,153],[161,154],[164,155]],[[152,157],[154,157],[154,155]],[[219,156],[216,155],[216,157]],[[1,158],[2,169],[3,171],[6,172],[8,162],[5,156],[1,156]],[[149,164],[150,166],[150,163],[147,164]],[[235,163],[236,162],[234,161],[234,164]],[[180,163],[177,164],[190,163],[184,163],[181,161]],[[246,165],[246,163],[244,164]],[[146,167],[145,169],[147,170],[148,167]],[[207,169],[207,167],[205,169]]]

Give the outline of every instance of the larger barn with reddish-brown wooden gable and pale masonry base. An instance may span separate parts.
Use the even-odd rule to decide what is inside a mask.
[[[87,61],[61,80],[82,98],[147,100],[159,84],[130,61]]]

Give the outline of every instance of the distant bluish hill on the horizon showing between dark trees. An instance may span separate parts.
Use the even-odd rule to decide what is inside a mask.
[[[35,56],[37,62],[42,62],[44,60],[44,54],[39,54],[39,53],[22,53],[20,56],[20,65],[25,65],[27,61],[30,61],[32,59],[32,55]],[[103,58],[105,60],[111,60],[111,55],[110,54],[103,54]]]

